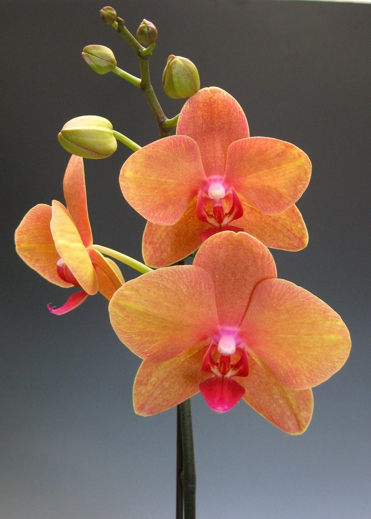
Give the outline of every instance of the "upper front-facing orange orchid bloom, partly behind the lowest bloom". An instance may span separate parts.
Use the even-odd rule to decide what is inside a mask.
[[[237,101],[217,87],[184,104],[177,134],[134,153],[120,174],[126,200],[148,220],[142,252],[151,267],[176,263],[223,230],[297,251],[308,233],[295,202],[311,174],[288,142],[250,137]]]

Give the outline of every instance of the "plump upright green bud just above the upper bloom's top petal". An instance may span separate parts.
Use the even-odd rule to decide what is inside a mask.
[[[162,86],[172,99],[191,97],[200,86],[196,66],[187,58],[171,54],[162,75]]]

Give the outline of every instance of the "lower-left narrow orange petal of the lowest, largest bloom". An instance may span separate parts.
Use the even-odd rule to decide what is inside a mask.
[[[154,415],[198,393],[198,385],[210,377],[201,371],[208,346],[209,342],[195,344],[164,362],[143,361],[134,381],[134,411]]]

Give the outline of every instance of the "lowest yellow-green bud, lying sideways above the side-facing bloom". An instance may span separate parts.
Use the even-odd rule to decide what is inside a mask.
[[[110,121],[98,115],[69,120],[58,134],[58,140],[67,152],[85,159],[105,159],[117,149]]]

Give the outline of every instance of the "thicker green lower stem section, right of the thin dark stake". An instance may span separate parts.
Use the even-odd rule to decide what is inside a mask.
[[[184,519],[196,517],[196,470],[194,465],[191,401],[178,405],[182,438],[183,471],[181,481],[184,496]]]

